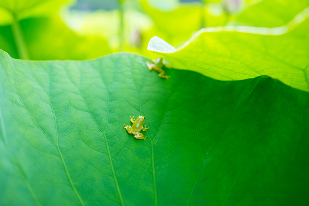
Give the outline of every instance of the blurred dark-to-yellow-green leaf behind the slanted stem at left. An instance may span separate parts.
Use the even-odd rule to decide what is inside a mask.
[[[91,59],[111,53],[102,36],[79,36],[58,16],[20,21],[29,57],[32,60]],[[0,27],[0,48],[19,58],[11,26]]]

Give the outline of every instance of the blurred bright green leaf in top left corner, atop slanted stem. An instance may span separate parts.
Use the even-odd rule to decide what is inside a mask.
[[[11,24],[13,18],[20,20],[54,14],[67,2],[70,0],[0,0],[0,25]]]

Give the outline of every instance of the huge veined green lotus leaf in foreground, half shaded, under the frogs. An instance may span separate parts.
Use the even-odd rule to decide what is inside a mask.
[[[0,51],[0,205],[307,205],[309,94],[145,57]],[[146,141],[122,128],[144,115]]]

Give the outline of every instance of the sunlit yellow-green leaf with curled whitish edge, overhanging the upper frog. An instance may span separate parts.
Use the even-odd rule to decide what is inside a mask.
[[[308,16],[306,8],[282,27],[201,29],[178,49],[154,37],[148,50],[166,56],[175,68],[190,69],[218,80],[268,75],[309,91],[309,19],[305,20]]]

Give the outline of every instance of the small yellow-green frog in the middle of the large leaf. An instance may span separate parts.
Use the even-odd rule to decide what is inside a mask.
[[[133,118],[130,117],[130,121],[133,123],[132,127],[127,125],[127,126],[124,126],[123,128],[125,128],[129,134],[133,134],[135,139],[145,140],[146,137],[144,137],[144,135],[140,132],[141,130],[146,131],[147,129],[149,129],[149,128],[146,128],[147,127],[146,125],[145,125],[145,128],[143,127],[145,117],[138,116],[137,119],[134,120],[134,116],[133,116]]]

